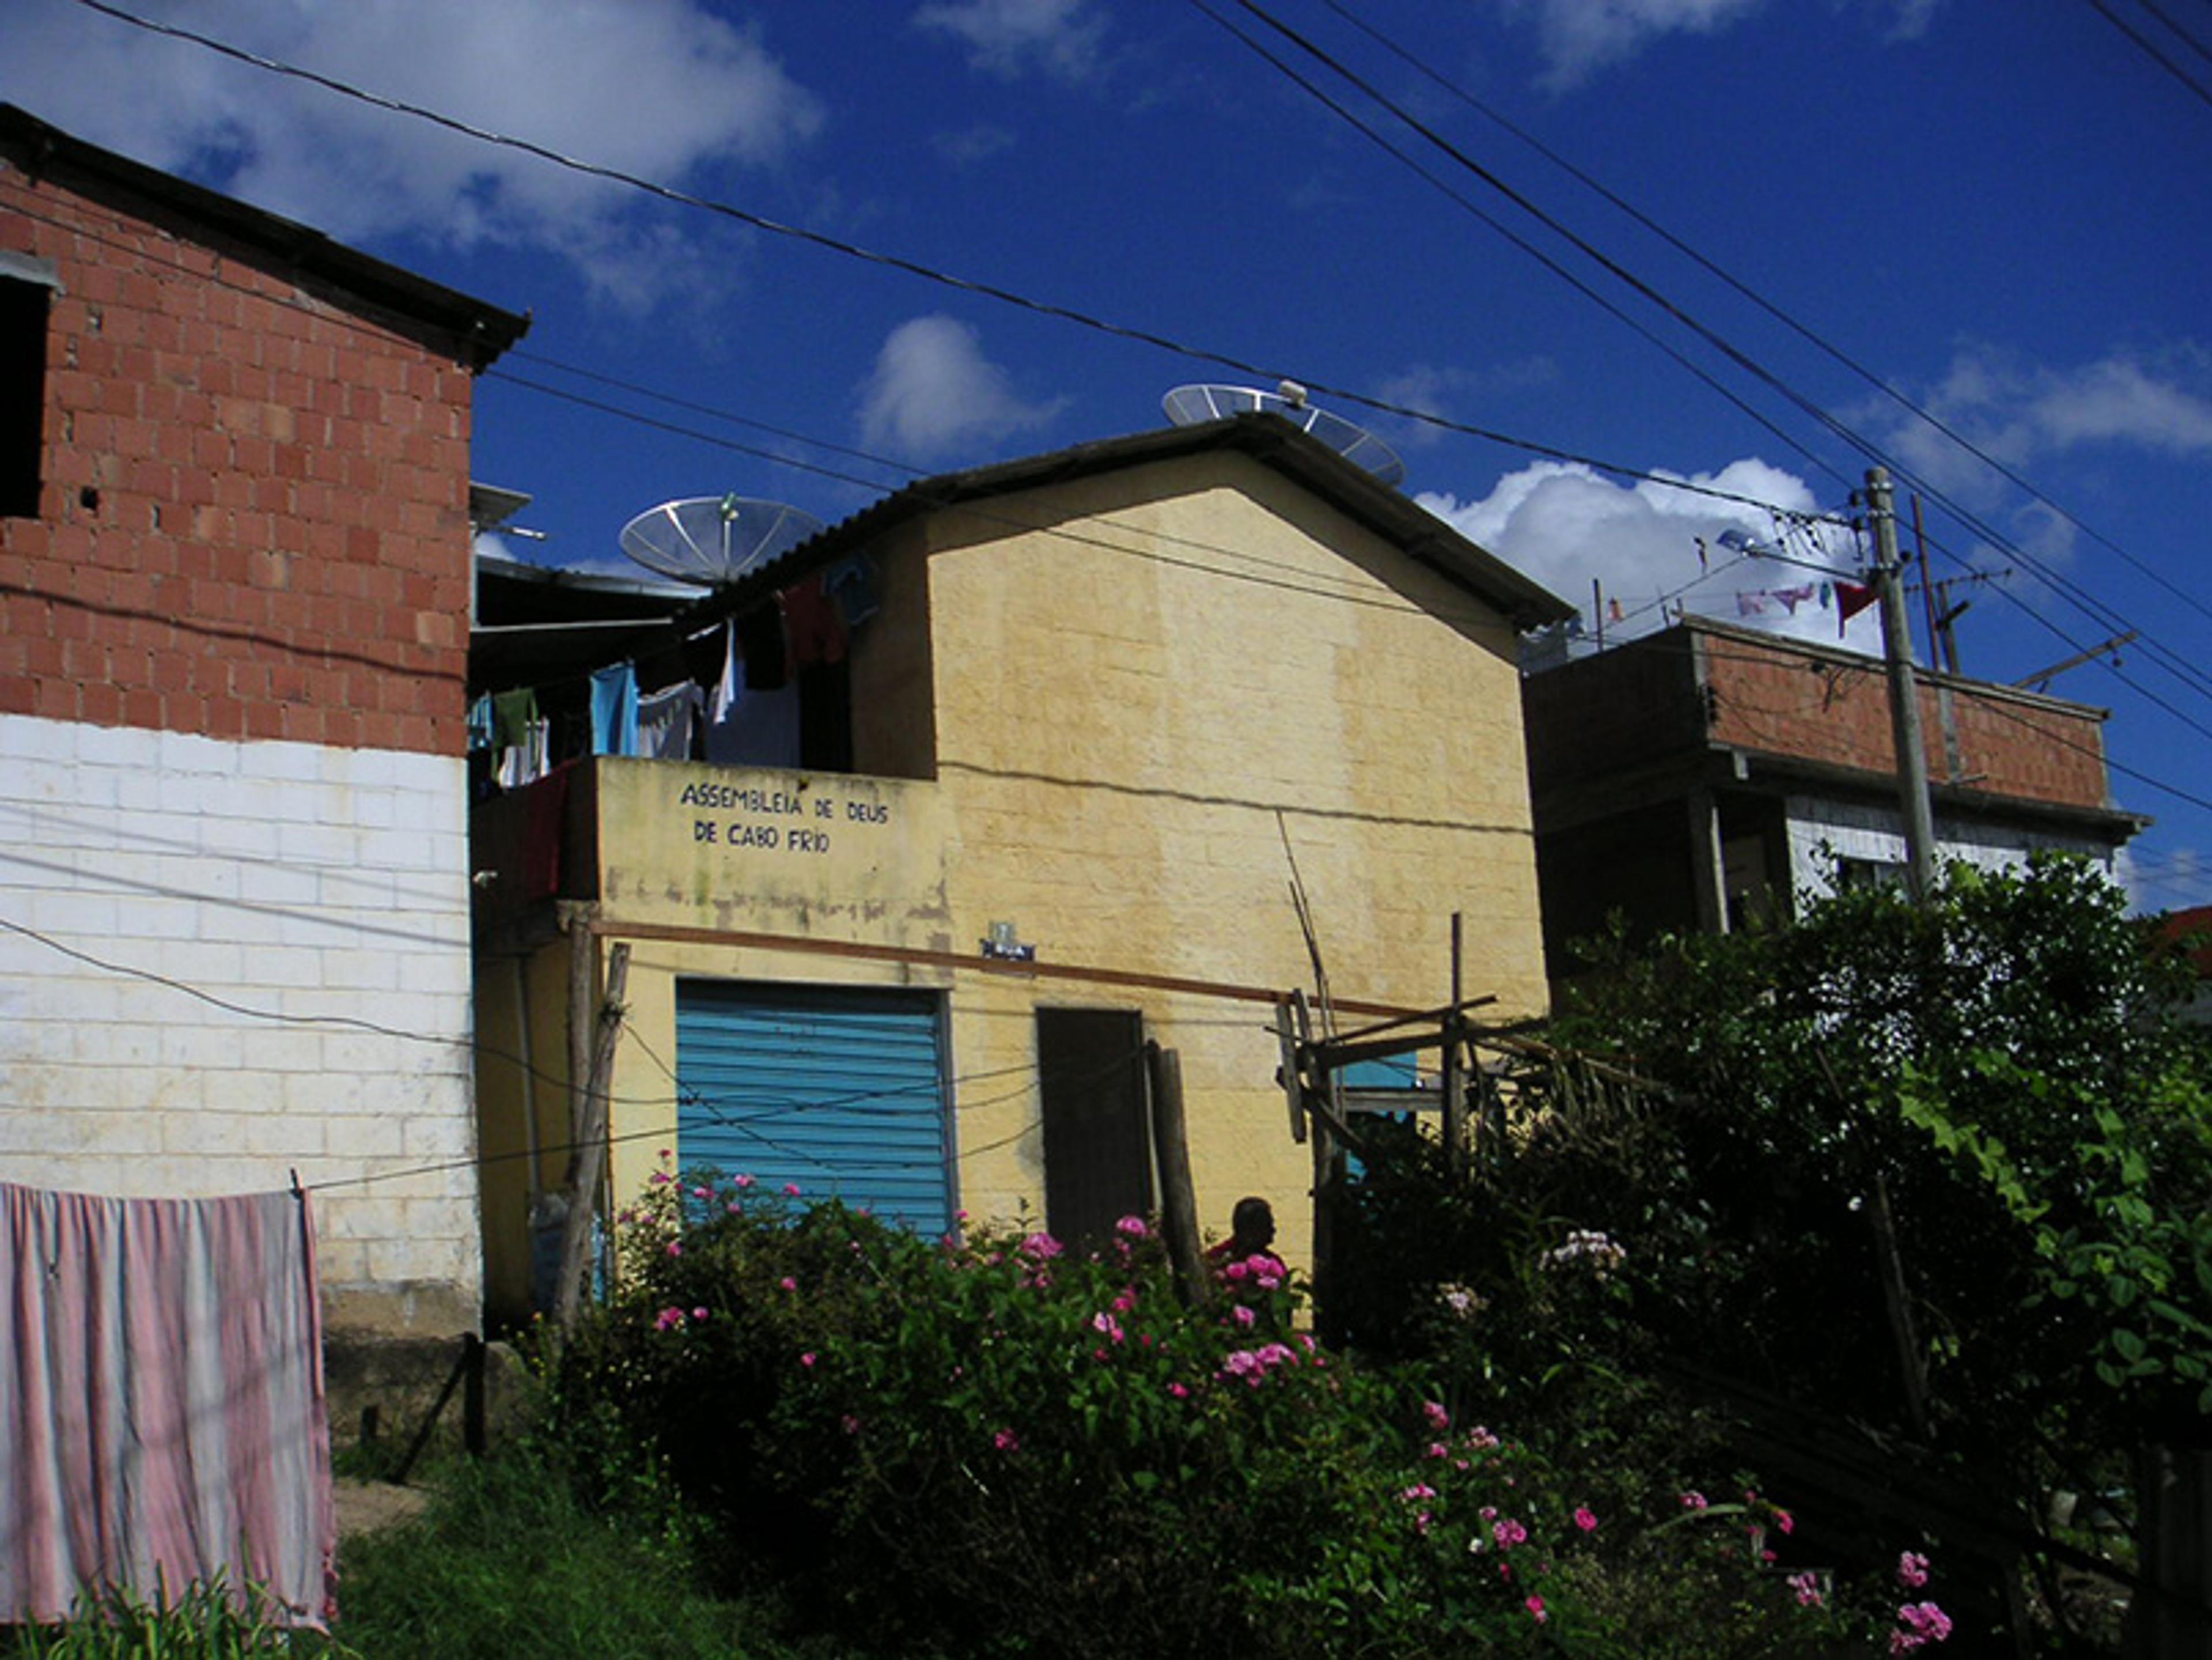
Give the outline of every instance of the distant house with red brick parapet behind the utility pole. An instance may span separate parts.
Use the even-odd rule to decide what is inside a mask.
[[[2110,864],[2104,710],[1922,670],[1936,858]],[[1522,687],[1553,975],[1606,926],[1728,931],[1832,882],[1902,873],[1880,659],[1690,617]]]

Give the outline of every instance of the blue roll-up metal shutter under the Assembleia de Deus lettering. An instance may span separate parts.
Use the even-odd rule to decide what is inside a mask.
[[[677,981],[677,1158],[951,1229],[938,999],[869,986]]]

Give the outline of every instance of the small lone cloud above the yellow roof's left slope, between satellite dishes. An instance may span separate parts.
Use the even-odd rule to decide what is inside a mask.
[[[1051,422],[1062,400],[1024,402],[967,323],[900,323],[860,387],[860,435],[898,460],[936,462]]]

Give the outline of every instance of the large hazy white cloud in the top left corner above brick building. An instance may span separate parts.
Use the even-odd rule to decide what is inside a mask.
[[[95,144],[345,241],[546,248],[622,270],[641,197],[420,117],[250,69],[66,0],[13,0],[0,93]],[[821,124],[761,40],[701,0],[146,0],[195,33],[661,183],[763,166]],[[159,86],[157,97],[119,88]],[[648,261],[650,265],[650,261]]]

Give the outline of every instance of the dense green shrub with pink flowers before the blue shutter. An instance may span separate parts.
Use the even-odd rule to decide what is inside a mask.
[[[1668,1653],[1639,1614],[1657,1603],[1756,1638],[1732,1653],[1840,1629],[1745,1536],[1772,1505],[1666,1492],[1632,1514],[1318,1344],[1272,1258],[1186,1302],[1141,1218],[1093,1253],[1033,1229],[922,1240],[672,1174],[619,1240],[564,1399],[611,1404],[889,1651]]]

